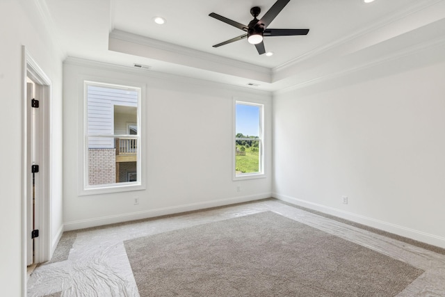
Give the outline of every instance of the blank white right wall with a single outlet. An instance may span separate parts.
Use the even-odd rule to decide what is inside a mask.
[[[275,95],[274,197],[445,248],[440,52]]]

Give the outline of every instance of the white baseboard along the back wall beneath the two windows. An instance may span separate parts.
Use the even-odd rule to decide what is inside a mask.
[[[186,211],[195,211],[200,209],[207,209],[211,207],[220,207],[230,204],[249,202],[254,200],[261,200],[270,198],[272,193],[262,193],[256,195],[248,195],[243,197],[225,198],[220,200],[211,200],[206,202],[197,202],[190,204],[182,204],[174,207],[163,207],[159,209],[149,209],[147,211],[138,211],[129,214],[118,214],[115,216],[104,216],[101,218],[91,218],[88,220],[76,220],[63,224],[64,231],[79,230],[89,227],[97,227],[102,225],[109,225],[114,223],[122,223],[130,220],[140,220],[144,218],[154,218],[156,216],[165,216],[169,214],[179,214]]]

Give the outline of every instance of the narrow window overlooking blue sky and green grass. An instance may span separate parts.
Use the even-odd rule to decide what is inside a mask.
[[[235,178],[264,175],[264,105],[235,102]]]

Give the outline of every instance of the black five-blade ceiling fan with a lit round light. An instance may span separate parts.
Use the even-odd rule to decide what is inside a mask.
[[[232,21],[232,19],[227,19],[227,17],[223,17],[216,13],[211,13],[209,17],[214,17],[215,19],[219,19],[221,22],[225,22],[226,24],[247,32],[236,38],[218,43],[218,45],[213,45],[213,47],[220,47],[221,45],[227,45],[229,43],[248,38],[248,42],[252,45],[255,45],[258,54],[261,55],[266,53],[263,42],[264,36],[307,35],[309,29],[267,29],[267,26],[273,21],[273,19],[275,19],[275,17],[280,13],[284,6],[289,3],[289,1],[290,0],[277,0],[277,2],[273,4],[268,12],[264,14],[263,17],[261,17],[261,19],[257,19],[257,16],[259,15],[259,13],[261,13],[261,9],[258,6],[252,7],[252,9],[250,9],[250,14],[254,18],[252,19],[252,21],[250,21],[248,26]]]

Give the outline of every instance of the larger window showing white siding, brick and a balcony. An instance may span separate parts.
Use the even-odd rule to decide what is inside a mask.
[[[140,185],[140,88],[86,81],[85,190]]]

